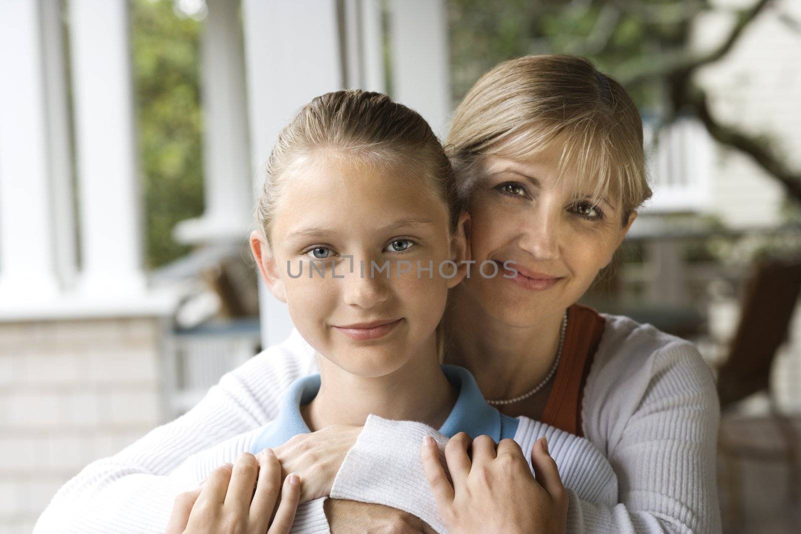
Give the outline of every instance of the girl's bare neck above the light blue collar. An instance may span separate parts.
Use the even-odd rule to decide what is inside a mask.
[[[437,362],[433,336],[403,367],[375,378],[353,375],[321,355],[317,359],[320,391],[301,410],[312,432],[332,424],[363,425],[371,413],[440,428],[456,403],[458,391]]]

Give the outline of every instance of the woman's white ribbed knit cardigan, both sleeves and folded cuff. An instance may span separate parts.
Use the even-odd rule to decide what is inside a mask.
[[[682,339],[625,317],[604,317],[606,329],[585,388],[582,430],[609,460],[617,480],[604,480],[598,466],[582,477],[582,460],[592,455],[584,445],[570,443],[586,440],[552,445],[570,488],[569,531],[719,532],[714,476],[719,410],[709,369]],[[163,532],[175,495],[246,450],[237,436],[272,420],[288,385],[312,372],[314,351],[294,331],[224,375],[184,416],[89,464],[56,493],[34,534]],[[515,436],[524,451],[542,432],[559,432],[530,423],[521,422]],[[437,525],[418,470],[425,434],[436,432],[371,418],[337,474],[332,496],[393,505]],[[391,480],[391,488],[380,480]],[[612,501],[618,504],[605,495],[610,484],[617,485]],[[326,531],[321,503],[301,507],[296,525]]]

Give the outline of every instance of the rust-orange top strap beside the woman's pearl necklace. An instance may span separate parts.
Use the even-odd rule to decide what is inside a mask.
[[[587,375],[606,319],[591,307],[574,304],[567,309],[567,331],[562,361],[556,371],[541,421],[575,436],[582,432],[582,399]]]

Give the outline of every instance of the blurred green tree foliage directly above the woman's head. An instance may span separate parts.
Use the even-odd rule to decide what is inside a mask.
[[[577,54],[617,77],[634,60],[684,44],[687,18],[646,18],[623,2],[581,0],[449,0],[453,99],[481,74],[525,54]],[[634,2],[637,3],[637,2]],[[674,2],[675,3],[675,2]],[[656,9],[666,2],[642,2]],[[672,13],[672,12],[671,12]],[[630,87],[641,108],[658,104],[658,84]]]

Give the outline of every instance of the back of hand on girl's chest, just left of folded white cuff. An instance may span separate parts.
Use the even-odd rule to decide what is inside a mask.
[[[356,444],[361,427],[333,424],[317,432],[298,434],[274,449],[283,475],[293,472],[303,480],[300,502],[331,495],[336,473]]]

